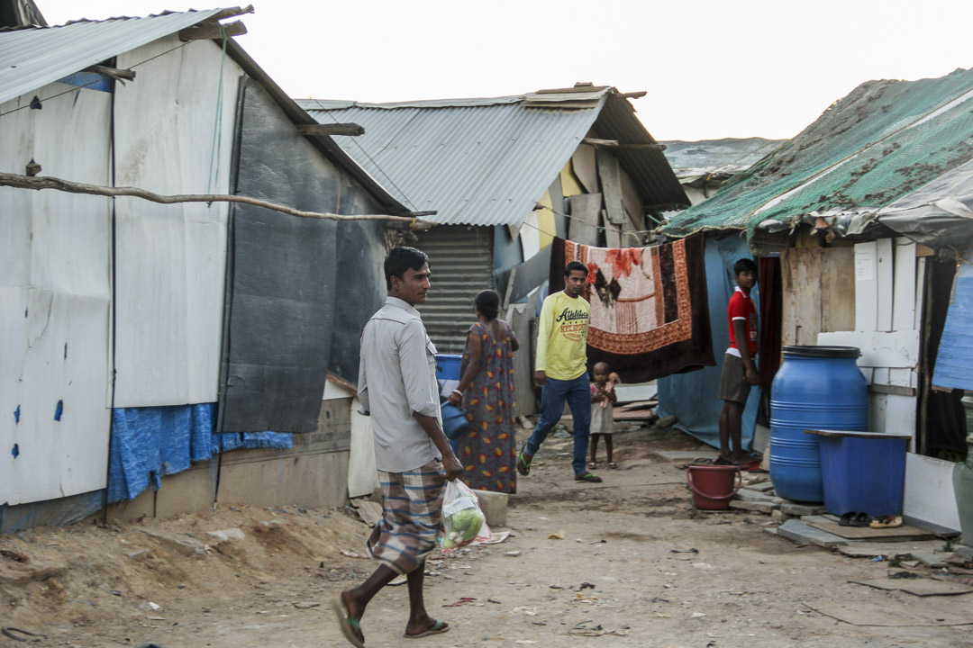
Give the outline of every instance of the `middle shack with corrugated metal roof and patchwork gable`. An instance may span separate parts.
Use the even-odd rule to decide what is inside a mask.
[[[644,94],[577,84],[486,99],[298,103],[322,124],[364,126],[339,142],[345,152],[403,204],[436,210],[439,224],[416,235],[434,273],[421,310],[439,350],[460,353],[472,296],[496,289],[507,304],[523,301],[546,283],[554,236],[640,246],[662,212],[689,205],[665,147],[635,116],[631,99]]]

